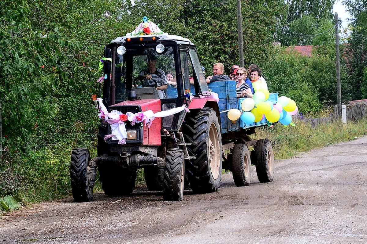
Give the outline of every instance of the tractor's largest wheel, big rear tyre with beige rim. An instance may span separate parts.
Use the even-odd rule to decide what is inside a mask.
[[[222,137],[218,117],[211,108],[203,108],[186,117],[185,141],[189,154],[196,157],[187,162],[190,186],[194,192],[218,191],[222,174]]]

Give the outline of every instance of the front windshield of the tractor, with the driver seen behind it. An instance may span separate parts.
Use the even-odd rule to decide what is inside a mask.
[[[127,100],[131,89],[152,93],[145,94],[145,98],[177,98],[175,46],[165,45],[163,51],[160,50],[161,53],[156,51],[156,46],[157,44],[126,45],[126,53],[116,53],[116,102]]]

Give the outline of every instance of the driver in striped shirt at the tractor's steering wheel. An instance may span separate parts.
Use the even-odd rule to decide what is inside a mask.
[[[154,86],[157,82],[157,92],[161,98],[166,98],[167,78],[163,70],[156,67],[157,55],[155,53],[147,56],[148,70],[143,70],[139,75],[146,75],[144,83],[146,86]],[[154,80],[153,80],[154,79]]]

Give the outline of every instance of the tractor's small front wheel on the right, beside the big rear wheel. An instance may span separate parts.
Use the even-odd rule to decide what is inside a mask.
[[[163,179],[163,199],[182,201],[185,185],[185,163],[182,150],[167,150]]]

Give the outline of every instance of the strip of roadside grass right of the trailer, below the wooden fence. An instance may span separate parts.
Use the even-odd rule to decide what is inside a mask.
[[[312,126],[301,119],[294,121],[295,127],[284,127],[280,123],[274,127],[256,130],[254,139],[269,138],[272,142],[274,157],[290,158],[299,152],[352,140],[367,135],[367,118],[358,121],[322,123]]]

